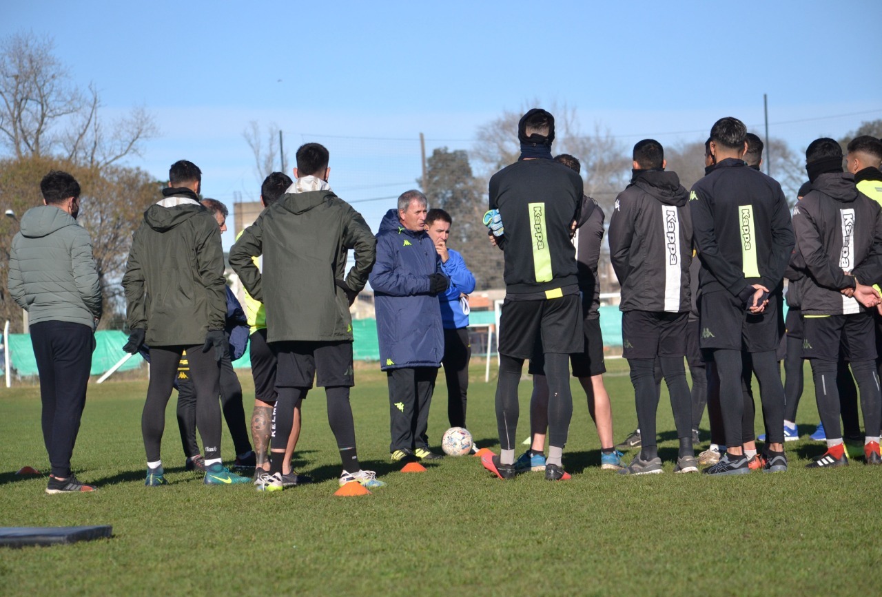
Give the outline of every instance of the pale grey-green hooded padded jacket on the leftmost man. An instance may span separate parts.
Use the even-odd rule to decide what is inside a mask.
[[[93,330],[101,318],[101,285],[92,240],[55,205],[33,207],[12,239],[9,293],[31,324],[66,321]]]

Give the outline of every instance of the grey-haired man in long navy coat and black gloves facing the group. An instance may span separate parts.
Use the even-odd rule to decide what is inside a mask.
[[[425,231],[426,196],[407,190],[377,233],[377,263],[370,272],[377,310],[380,366],[389,383],[392,460],[439,459],[429,451],[429,407],[444,356],[437,295],[450,280]]]

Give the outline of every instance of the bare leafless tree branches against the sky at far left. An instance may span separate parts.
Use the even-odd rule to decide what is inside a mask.
[[[56,155],[97,168],[139,155],[158,134],[153,116],[135,108],[105,125],[95,86],[79,89],[53,50],[34,34],[0,41],[0,146],[16,158]]]

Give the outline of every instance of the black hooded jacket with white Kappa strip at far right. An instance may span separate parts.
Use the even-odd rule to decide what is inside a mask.
[[[791,267],[799,280],[804,315],[849,315],[863,311],[842,288],[879,281],[882,210],[857,192],[853,175],[827,173],[793,210],[796,250]],[[845,275],[852,272],[854,278]]]

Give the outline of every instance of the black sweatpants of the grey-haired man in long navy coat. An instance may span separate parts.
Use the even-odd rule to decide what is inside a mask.
[[[437,367],[403,367],[386,371],[389,384],[389,451],[429,448],[429,407]]]

